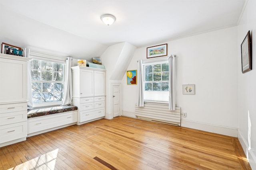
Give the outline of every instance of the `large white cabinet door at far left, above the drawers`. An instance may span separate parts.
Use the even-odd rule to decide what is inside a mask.
[[[27,62],[0,59],[0,103],[27,100]]]

